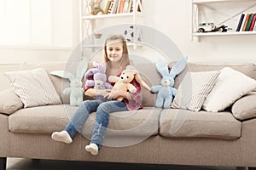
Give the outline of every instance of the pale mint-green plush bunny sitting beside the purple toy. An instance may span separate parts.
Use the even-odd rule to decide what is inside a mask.
[[[85,71],[88,68],[88,60],[84,58],[79,62],[76,71],[76,77],[68,71],[51,71],[50,74],[67,78],[70,81],[70,87],[63,90],[63,94],[70,94],[70,105],[81,105],[83,102],[84,88],[82,88],[82,78],[84,77]]]

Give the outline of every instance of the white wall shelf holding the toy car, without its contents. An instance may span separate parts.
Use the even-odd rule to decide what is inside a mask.
[[[191,0],[192,28],[194,37],[256,35],[256,31],[236,31],[241,14],[256,13],[256,0]],[[227,32],[197,32],[199,23],[212,22],[215,26],[225,25]]]

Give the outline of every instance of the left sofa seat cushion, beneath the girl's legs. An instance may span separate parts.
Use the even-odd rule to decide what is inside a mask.
[[[15,111],[9,116],[9,130],[14,133],[52,133],[63,130],[73,113],[78,109],[71,105],[45,105]],[[144,136],[158,133],[160,109],[145,107],[138,111],[112,113],[108,131],[110,135]],[[82,129],[90,135],[95,124],[92,113]]]

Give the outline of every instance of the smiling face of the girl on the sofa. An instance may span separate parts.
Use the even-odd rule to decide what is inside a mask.
[[[123,42],[109,41],[107,43],[108,59],[111,61],[119,61],[123,56]]]

